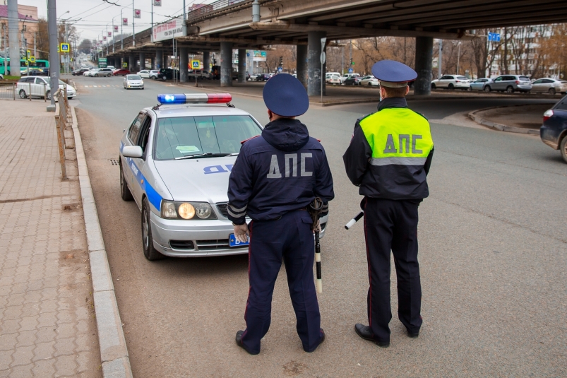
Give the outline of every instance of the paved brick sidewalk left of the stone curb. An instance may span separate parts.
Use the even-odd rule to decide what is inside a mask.
[[[75,152],[62,180],[54,113],[0,107],[0,377],[102,377]]]

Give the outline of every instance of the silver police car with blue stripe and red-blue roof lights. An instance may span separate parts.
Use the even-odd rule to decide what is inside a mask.
[[[141,210],[148,260],[248,253],[227,218],[228,179],[241,141],[262,126],[231,100],[228,93],[158,95],[159,105],[141,110],[124,131],[121,197]]]

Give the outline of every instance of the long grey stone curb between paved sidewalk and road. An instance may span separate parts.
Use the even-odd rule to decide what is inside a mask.
[[[80,196],[83,202],[87,232],[92,295],[95,299],[102,377],[132,378],[126,338],[124,338],[124,330],[122,329],[116,294],[112,284],[105,242],[102,240],[95,197],[92,195],[85,150],[83,150],[83,141],[80,138],[74,106],[71,106],[71,116],[73,117],[73,134],[79,170]]]

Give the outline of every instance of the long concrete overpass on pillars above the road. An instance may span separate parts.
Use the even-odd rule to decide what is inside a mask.
[[[416,93],[427,94],[434,38],[470,39],[475,35],[467,30],[566,19],[564,0],[219,0],[187,13],[186,32],[174,40],[181,64],[193,52],[203,52],[207,64],[208,52],[220,49],[221,85],[225,86],[232,85],[232,49],[239,49],[243,78],[245,49],[297,45],[297,76],[309,95],[319,95],[325,76],[319,62],[321,37],[327,37],[328,43],[361,37],[415,37],[418,77],[414,88]],[[162,61],[160,49],[172,49],[173,38],[151,43],[148,30],[138,35],[136,47],[126,47],[125,40],[124,49],[115,55],[139,53],[142,57],[157,52],[156,61]],[[181,66],[181,79],[184,76],[186,69]]]

